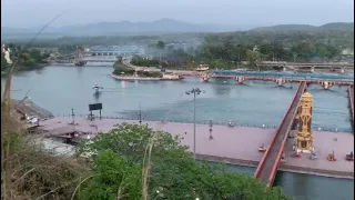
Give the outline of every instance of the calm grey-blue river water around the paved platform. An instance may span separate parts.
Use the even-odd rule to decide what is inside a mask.
[[[39,106],[54,116],[89,113],[89,103],[102,102],[102,116],[138,119],[141,104],[143,119],[193,121],[193,97],[185,91],[199,87],[196,120],[226,123],[229,120],[243,126],[275,127],[282,120],[297,84],[275,87],[272,82],[252,81],[246,86],[233,80],[215,79],[203,83],[196,78],[181,81],[118,81],[110,78],[111,67],[47,67],[21,72],[13,77],[12,98],[22,99],[27,93]],[[1,82],[3,83],[3,79]],[[100,96],[92,86],[103,87]],[[2,84],[3,86],[3,84]],[[311,86],[314,97],[313,127],[323,130],[351,131],[346,88],[333,87],[325,91]],[[253,174],[254,168],[229,166]],[[307,174],[278,172],[275,186],[284,187],[298,200],[354,199],[354,181]]]

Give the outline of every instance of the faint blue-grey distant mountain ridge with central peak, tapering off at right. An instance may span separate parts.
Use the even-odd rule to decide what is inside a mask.
[[[244,26],[247,27],[247,26]],[[250,28],[250,27],[247,27]],[[252,27],[254,28],[254,27]],[[17,29],[2,27],[1,34],[24,34],[36,33],[41,28]],[[152,22],[99,22],[79,26],[67,26],[60,28],[47,28],[43,33],[60,34],[60,36],[110,36],[110,34],[128,34],[128,33],[149,33],[149,32],[224,32],[243,30],[239,26],[223,24],[194,24],[181,22],[173,19],[160,19]],[[245,30],[245,29],[244,29]]]

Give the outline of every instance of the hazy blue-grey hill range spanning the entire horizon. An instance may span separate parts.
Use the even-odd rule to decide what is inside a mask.
[[[354,23],[326,23],[321,27],[310,24],[277,24],[273,27],[260,27],[247,24],[195,24],[181,22],[173,19],[160,19],[152,22],[99,22],[65,27],[48,27],[40,36],[41,39],[55,39],[60,37],[83,37],[83,36],[156,36],[161,33],[182,33],[182,32],[235,32],[251,30],[257,32],[290,32],[290,31],[324,31],[342,30],[353,31]],[[1,27],[1,40],[22,40],[32,38],[41,27],[29,29]]]

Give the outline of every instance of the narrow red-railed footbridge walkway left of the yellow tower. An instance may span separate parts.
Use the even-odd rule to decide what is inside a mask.
[[[280,159],[290,132],[291,126],[294,121],[296,109],[301,100],[302,94],[305,92],[306,83],[302,82],[298,87],[298,90],[284,117],[282,123],[280,124],[276,133],[268,146],[266,152],[264,153],[262,160],[258,163],[258,167],[254,176],[263,182],[267,183],[267,187],[272,187],[275,173],[277,172]]]

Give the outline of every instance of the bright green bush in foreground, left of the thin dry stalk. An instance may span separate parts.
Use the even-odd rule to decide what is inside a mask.
[[[142,166],[128,161],[112,150],[103,150],[93,160],[92,179],[84,182],[78,199],[135,200],[141,198]]]

